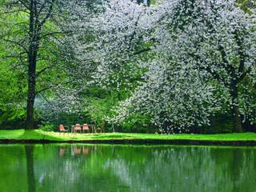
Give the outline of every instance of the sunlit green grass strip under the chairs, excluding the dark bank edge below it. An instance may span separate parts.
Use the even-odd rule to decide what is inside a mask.
[[[256,141],[255,133],[242,134],[59,134],[42,130],[0,130],[0,139],[47,139],[52,141],[117,139],[185,139],[200,141]]]

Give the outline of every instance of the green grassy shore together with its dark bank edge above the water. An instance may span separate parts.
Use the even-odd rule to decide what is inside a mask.
[[[240,134],[59,134],[43,130],[0,130],[0,144],[92,143],[198,146],[256,146],[256,133]]]

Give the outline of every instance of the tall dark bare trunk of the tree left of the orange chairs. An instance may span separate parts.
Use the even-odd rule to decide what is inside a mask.
[[[30,47],[28,51],[28,91],[26,101],[26,130],[34,129],[34,98],[36,86],[36,64],[38,54],[38,34],[36,7],[34,0],[30,0]]]

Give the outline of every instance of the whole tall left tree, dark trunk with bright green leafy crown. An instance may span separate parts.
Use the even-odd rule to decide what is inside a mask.
[[[65,34],[70,33],[62,26],[71,6],[72,2],[55,0],[13,0],[1,3],[1,40],[5,42],[6,52],[9,51],[10,57],[19,59],[17,65],[22,66],[23,73],[26,73],[26,129],[34,129],[36,96],[53,86],[48,81],[55,80],[50,79],[49,73],[58,67],[60,60],[65,59],[63,56],[60,59],[62,54],[58,46],[63,43]],[[60,74],[55,74],[55,78]],[[38,82],[41,85],[38,86]]]

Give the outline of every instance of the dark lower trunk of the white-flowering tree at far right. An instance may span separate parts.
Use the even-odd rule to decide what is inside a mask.
[[[231,90],[231,116],[233,120],[233,132],[241,133],[242,132],[242,121],[241,114],[238,107],[238,84],[232,83]]]

